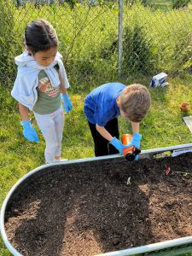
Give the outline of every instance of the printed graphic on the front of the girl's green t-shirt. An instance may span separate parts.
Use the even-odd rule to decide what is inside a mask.
[[[55,98],[59,92],[58,87],[53,87],[50,84],[49,78],[40,79],[38,82],[38,89],[44,92],[47,96]]]

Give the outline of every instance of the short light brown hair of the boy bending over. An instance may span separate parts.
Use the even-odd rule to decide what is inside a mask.
[[[148,113],[150,105],[150,93],[142,84],[128,85],[119,96],[119,108],[131,122],[140,123]]]

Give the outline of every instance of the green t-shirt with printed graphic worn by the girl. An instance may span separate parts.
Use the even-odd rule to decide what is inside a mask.
[[[55,112],[61,106],[60,86],[50,84],[49,77],[41,70],[38,73],[38,100],[33,107],[35,113],[48,114]]]

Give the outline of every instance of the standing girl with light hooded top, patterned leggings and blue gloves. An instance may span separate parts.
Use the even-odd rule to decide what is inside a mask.
[[[32,128],[28,109],[32,110],[44,135],[45,162],[61,160],[61,140],[64,113],[72,103],[67,95],[69,83],[61,55],[57,51],[58,38],[48,21],[39,19],[26,26],[25,48],[15,57],[18,73],[11,95],[19,102],[23,135],[30,142],[38,143],[38,134]]]

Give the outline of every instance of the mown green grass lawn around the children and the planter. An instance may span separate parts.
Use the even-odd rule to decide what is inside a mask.
[[[148,86],[149,79],[138,79],[137,82]],[[183,75],[169,79],[169,83],[165,88],[150,89],[152,108],[141,125],[142,149],[192,143],[192,134],[184,124],[183,113],[179,109],[180,102],[191,103],[192,77]],[[29,143],[22,136],[17,105],[6,85],[9,86],[0,86],[0,205],[20,177],[44,164],[45,147],[44,138],[37,125],[35,126],[40,137],[38,144]],[[69,92],[73,101],[73,111],[66,115],[62,148],[62,157],[69,160],[94,156],[93,142],[83,112],[86,93]],[[187,115],[190,114],[192,115],[192,110]],[[120,118],[119,129],[121,134],[131,132],[131,126]],[[6,255],[10,253],[0,239],[0,256]]]

